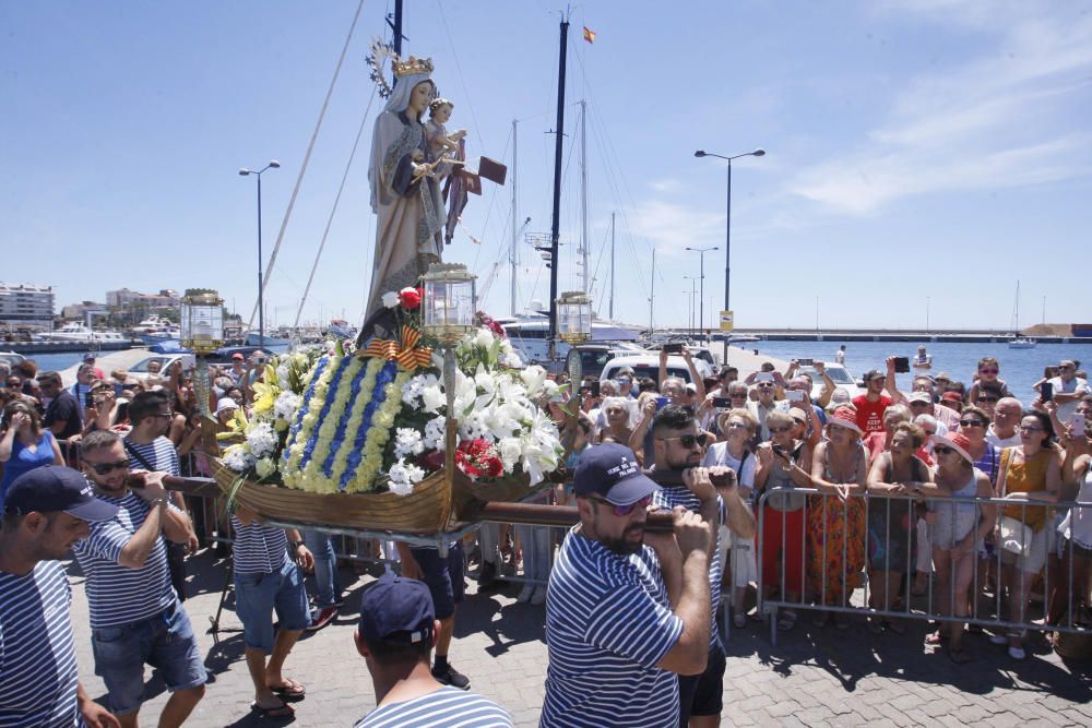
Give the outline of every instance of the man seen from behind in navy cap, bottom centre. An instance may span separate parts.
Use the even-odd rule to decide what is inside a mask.
[[[377,707],[354,728],[512,725],[508,713],[492,701],[432,677],[429,666],[439,633],[440,622],[424,582],[388,573],[364,593],[354,639],[368,663]]]

